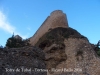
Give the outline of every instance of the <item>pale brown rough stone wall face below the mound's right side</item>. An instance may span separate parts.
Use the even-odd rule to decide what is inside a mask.
[[[64,44],[67,60],[63,65],[66,65],[66,68],[82,69],[77,73],[79,75],[99,75],[100,58],[88,40],[69,38],[68,40],[65,39]]]

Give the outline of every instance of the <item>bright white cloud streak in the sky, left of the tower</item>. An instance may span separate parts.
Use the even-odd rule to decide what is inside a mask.
[[[7,21],[7,17],[2,11],[0,11],[0,29],[10,34],[13,34],[14,32],[15,35],[18,34],[24,39],[27,38],[27,35],[23,36],[19,32],[16,31],[16,28]]]

